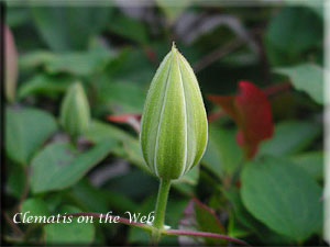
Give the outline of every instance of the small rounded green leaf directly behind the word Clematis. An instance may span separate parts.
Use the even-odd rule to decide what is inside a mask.
[[[38,198],[31,198],[22,203],[21,212],[28,216],[48,216],[51,212],[47,204]],[[29,212],[29,213],[28,213]]]

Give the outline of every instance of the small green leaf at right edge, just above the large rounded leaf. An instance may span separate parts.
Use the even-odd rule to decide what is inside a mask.
[[[290,157],[290,160],[297,166],[304,168],[312,178],[322,180],[324,164],[323,151],[318,150],[297,154]]]

